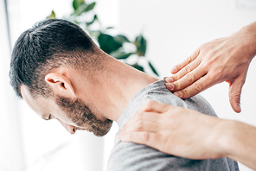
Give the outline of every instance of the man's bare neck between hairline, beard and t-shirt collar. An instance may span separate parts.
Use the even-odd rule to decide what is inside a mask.
[[[118,120],[136,93],[158,80],[115,59],[107,62],[104,71],[93,74],[94,106],[113,121]]]

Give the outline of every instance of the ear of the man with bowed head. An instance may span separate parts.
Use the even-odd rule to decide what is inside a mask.
[[[75,96],[71,80],[66,76],[61,75],[60,73],[48,73],[45,76],[45,81],[57,94],[65,97]]]

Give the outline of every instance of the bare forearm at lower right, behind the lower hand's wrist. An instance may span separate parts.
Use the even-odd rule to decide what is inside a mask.
[[[256,169],[256,128],[238,121],[224,121],[219,144],[223,155]]]

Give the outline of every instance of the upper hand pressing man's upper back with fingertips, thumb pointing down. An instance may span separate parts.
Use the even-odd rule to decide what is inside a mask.
[[[229,83],[229,101],[240,112],[240,94],[256,54],[256,22],[233,35],[209,41],[171,69],[166,87],[180,98],[190,98],[212,85]]]

